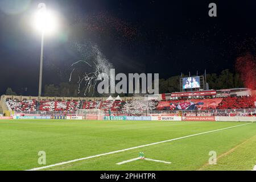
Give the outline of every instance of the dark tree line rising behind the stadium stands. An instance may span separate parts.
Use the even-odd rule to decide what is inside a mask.
[[[184,75],[183,77],[188,77]],[[220,74],[207,74],[207,82],[209,89],[228,89],[241,88],[243,82],[238,73],[232,73],[229,69],[224,69]],[[97,86],[96,88],[97,89]],[[59,85],[48,84],[44,85],[43,96],[56,97],[108,97],[109,94],[98,94],[97,90],[90,88],[87,93],[84,93],[85,85],[78,89],[77,83],[61,82]],[[172,76],[167,79],[159,79],[159,93],[180,92],[180,76]],[[16,95],[11,88],[7,88],[6,95]],[[119,94],[119,96],[132,96],[132,94]]]

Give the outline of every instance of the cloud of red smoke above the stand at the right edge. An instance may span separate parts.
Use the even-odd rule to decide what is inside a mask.
[[[246,53],[237,58],[236,70],[246,88],[256,89],[256,60],[253,55]]]

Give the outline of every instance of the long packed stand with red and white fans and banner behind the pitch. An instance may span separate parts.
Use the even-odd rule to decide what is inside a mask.
[[[205,100],[178,101],[51,101],[51,100],[6,100],[6,104],[15,111],[76,111],[77,109],[101,109],[136,113],[150,110],[179,110],[185,105],[187,110],[206,109],[248,109],[255,108],[255,96],[212,98]],[[183,107],[181,107],[183,109]],[[184,110],[184,109],[183,109]]]

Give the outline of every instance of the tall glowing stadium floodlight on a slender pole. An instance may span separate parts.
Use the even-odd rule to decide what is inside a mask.
[[[42,34],[41,39],[41,56],[40,56],[40,73],[39,73],[39,90],[38,96],[42,94],[42,75],[43,75],[43,50],[44,50],[44,35],[51,34],[56,30],[56,16],[46,9],[46,4],[39,3],[38,12],[34,17],[34,26]]]

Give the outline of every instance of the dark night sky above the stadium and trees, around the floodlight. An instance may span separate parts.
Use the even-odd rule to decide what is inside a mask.
[[[0,94],[7,87],[38,93],[40,34],[31,27],[39,2],[58,13],[60,26],[44,44],[43,84],[68,81],[71,64],[97,46],[116,72],[160,78],[234,71],[236,57],[255,55],[256,2],[1,0]],[[210,2],[217,17],[208,16]]]

